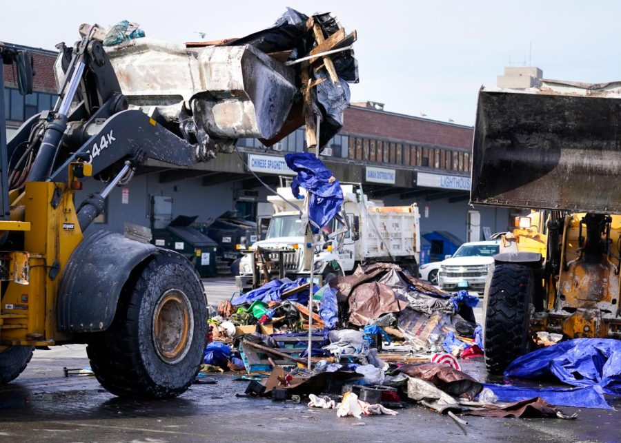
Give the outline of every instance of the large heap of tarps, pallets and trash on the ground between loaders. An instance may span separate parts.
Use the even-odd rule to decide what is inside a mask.
[[[313,286],[312,313],[305,307],[310,289],[304,279],[273,280],[222,302],[210,319],[215,341],[205,363],[269,373],[264,382],[250,381],[244,395],[304,396],[308,406],[336,409],[339,417],[395,415],[418,403],[460,425],[466,422],[455,414],[575,418],[536,392],[501,403],[493,385],[460,370],[458,357],[482,355],[472,310],[478,298],[466,291],[443,293],[386,263]]]

